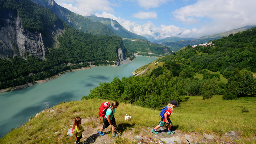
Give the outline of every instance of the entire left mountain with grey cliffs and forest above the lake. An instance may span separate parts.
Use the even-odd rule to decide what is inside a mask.
[[[88,67],[88,61],[120,65],[133,56],[119,36],[76,30],[31,0],[0,0],[0,18],[0,89]]]

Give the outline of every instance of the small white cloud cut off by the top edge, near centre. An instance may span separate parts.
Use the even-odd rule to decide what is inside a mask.
[[[167,3],[168,1],[172,0],[137,0],[138,4],[146,9],[157,8],[160,5]]]

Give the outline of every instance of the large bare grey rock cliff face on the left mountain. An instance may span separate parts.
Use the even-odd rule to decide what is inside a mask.
[[[17,13],[2,11],[0,19],[0,58],[35,55],[45,59],[49,48],[58,45],[57,37],[64,31],[61,20],[48,28],[48,35],[44,36],[40,32],[32,33],[24,29]]]

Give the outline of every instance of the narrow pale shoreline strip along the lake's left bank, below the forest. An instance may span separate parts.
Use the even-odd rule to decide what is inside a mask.
[[[136,59],[136,57],[133,60],[131,60],[130,62],[134,61],[135,59]],[[102,65],[102,66],[104,66],[104,65]],[[116,65],[108,65],[108,66],[115,67]],[[91,69],[91,67],[95,67],[95,65],[89,65],[89,67],[81,67],[79,69],[72,69],[72,71],[71,70],[67,70],[65,73],[62,73],[62,74],[58,73],[58,74],[56,74],[56,75],[54,75],[54,76],[52,76],[50,78],[46,78],[44,80],[37,80],[37,81],[35,81],[36,83],[28,83],[28,84],[24,84],[24,85],[20,85],[20,86],[9,87],[9,88],[6,88],[6,89],[0,89],[0,93],[26,89],[26,88],[28,88],[30,86],[33,86],[35,84],[38,84],[38,83],[46,83],[48,81],[54,80],[54,79],[60,77],[61,75],[66,74],[66,73],[74,72],[74,71],[79,71],[79,70]]]

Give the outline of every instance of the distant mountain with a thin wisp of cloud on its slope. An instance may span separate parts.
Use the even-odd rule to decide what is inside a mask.
[[[132,33],[128,30],[126,30],[124,27],[122,27],[117,21],[110,19],[110,18],[102,18],[102,17],[97,17],[95,15],[91,16],[86,16],[88,19],[94,21],[94,22],[101,22],[108,27],[111,28],[113,32],[115,32],[118,36],[121,38],[134,38],[134,39],[146,39],[143,36],[137,35],[135,33]]]

